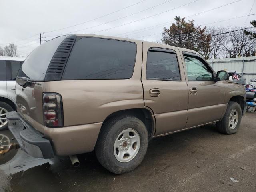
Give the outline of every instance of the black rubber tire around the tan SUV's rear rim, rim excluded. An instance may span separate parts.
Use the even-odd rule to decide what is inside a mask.
[[[120,162],[114,155],[114,143],[118,135],[128,128],[136,130],[140,136],[140,148],[136,156],[129,162]],[[111,118],[104,124],[95,152],[100,164],[115,174],[122,174],[134,170],[143,160],[148,148],[148,131],[144,123],[134,116],[120,116]]]

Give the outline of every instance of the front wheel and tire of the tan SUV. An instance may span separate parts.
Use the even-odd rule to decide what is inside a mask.
[[[216,123],[217,128],[221,133],[234,134],[240,126],[241,118],[241,106],[237,102],[230,101],[224,117]]]

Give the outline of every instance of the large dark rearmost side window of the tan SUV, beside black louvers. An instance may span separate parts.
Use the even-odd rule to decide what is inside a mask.
[[[82,38],[74,44],[63,79],[128,79],[135,59],[135,43]]]

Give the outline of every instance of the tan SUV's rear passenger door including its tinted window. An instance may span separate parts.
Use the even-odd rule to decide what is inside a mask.
[[[160,135],[185,128],[188,86],[178,48],[152,45],[143,42],[142,84],[145,106],[156,118],[155,135]]]

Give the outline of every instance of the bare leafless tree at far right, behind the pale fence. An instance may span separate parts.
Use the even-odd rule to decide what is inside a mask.
[[[231,57],[250,56],[256,46],[256,39],[251,39],[240,29],[241,28],[229,28],[229,31],[237,31],[228,33],[228,42],[223,44],[224,50],[228,52]]]

